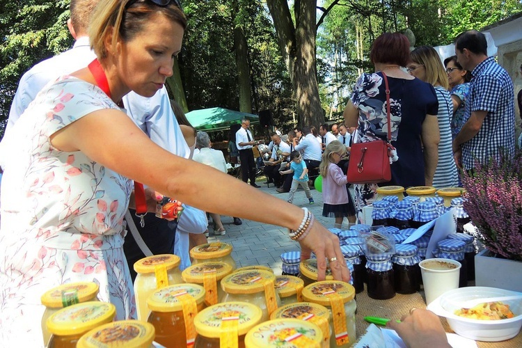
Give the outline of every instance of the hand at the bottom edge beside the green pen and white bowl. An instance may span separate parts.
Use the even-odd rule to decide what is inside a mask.
[[[401,322],[390,320],[386,326],[397,331],[407,347],[451,347],[441,320],[429,310],[412,308]]]

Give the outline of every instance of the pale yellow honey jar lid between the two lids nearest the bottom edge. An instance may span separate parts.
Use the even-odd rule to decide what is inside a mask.
[[[247,302],[223,302],[209,306],[194,318],[194,326],[199,335],[219,338],[221,323],[237,320],[237,334],[244,335],[261,322],[262,310]]]

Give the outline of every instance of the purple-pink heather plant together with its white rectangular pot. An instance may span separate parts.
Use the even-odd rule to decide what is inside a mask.
[[[475,164],[462,182],[464,209],[485,246],[475,256],[475,284],[522,291],[522,150]]]

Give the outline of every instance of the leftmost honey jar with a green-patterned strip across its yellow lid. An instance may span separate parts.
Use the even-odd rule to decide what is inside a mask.
[[[51,333],[47,331],[47,318],[62,308],[76,303],[97,301],[96,296],[100,286],[92,282],[67,283],[55,287],[42,295],[42,305],[45,312],[42,316],[42,336],[44,347],[47,347]]]

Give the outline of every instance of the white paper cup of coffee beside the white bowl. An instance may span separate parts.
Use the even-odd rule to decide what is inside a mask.
[[[450,259],[427,259],[419,262],[426,304],[448,290],[459,287],[460,262]]]

